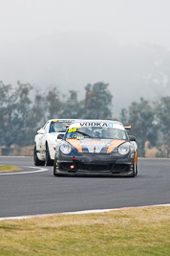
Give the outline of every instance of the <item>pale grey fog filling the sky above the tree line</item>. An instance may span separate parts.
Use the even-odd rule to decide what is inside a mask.
[[[0,0],[0,81],[62,93],[104,81],[113,113],[170,95],[168,0]]]

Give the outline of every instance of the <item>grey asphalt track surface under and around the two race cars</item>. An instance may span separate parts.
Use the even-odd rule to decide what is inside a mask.
[[[7,164],[23,171],[0,174],[0,217],[170,203],[170,159],[138,159],[135,178],[55,177],[32,157],[0,157]]]

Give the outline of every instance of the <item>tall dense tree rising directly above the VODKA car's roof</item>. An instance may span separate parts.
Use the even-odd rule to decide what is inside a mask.
[[[109,119],[112,118],[110,110],[113,96],[108,90],[109,84],[96,82],[93,85],[87,84],[86,94],[83,103],[83,118]]]

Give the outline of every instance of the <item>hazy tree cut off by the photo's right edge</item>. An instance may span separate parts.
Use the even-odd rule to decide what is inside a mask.
[[[157,117],[162,143],[166,148],[167,157],[170,157],[170,97],[162,97],[157,105]]]

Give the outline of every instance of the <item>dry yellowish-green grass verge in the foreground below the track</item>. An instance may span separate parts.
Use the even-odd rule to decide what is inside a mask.
[[[0,221],[0,255],[170,255],[170,207]]]

